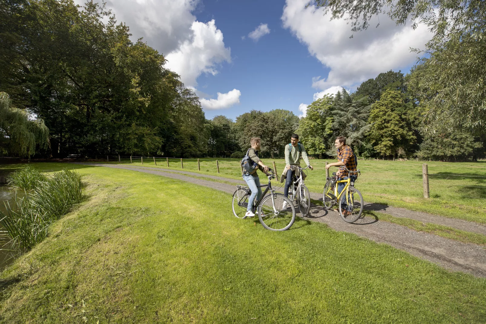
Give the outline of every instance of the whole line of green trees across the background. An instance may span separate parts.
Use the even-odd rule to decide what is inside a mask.
[[[314,101],[304,118],[275,109],[232,121],[207,120],[164,56],[130,36],[93,2],[0,1],[0,155],[241,157],[259,136],[263,156],[281,157],[296,132],[315,157],[335,155],[339,135],[362,157],[485,156],[486,37],[454,38],[406,76],[380,73]],[[461,41],[485,50],[451,55]]]

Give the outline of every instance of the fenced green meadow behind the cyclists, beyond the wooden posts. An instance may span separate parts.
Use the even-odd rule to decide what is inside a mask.
[[[285,162],[283,160],[263,160],[269,166],[272,166],[272,161],[276,162],[280,175]],[[325,160],[311,161],[314,171],[308,172],[305,183],[311,192],[321,193],[326,180]],[[329,162],[334,161],[329,160]],[[122,163],[126,163],[126,161]],[[417,161],[359,161],[358,168],[362,173],[356,182],[356,187],[362,192],[364,200],[367,202],[486,224],[486,162],[427,162],[430,174],[431,198],[429,199],[423,198],[422,163]],[[140,165],[140,162],[134,160],[133,164]],[[167,168],[165,161],[160,162],[159,160],[157,164],[159,167]],[[155,166],[153,160],[152,162],[145,161],[143,165]],[[198,171],[196,161],[184,160],[184,170],[218,175],[215,161],[200,160],[200,165],[201,171]],[[170,168],[180,170],[180,161],[170,160]],[[219,160],[219,168],[219,176],[241,179],[239,160]],[[330,170],[332,173],[337,169],[331,168]],[[460,177],[453,175],[460,175]],[[266,182],[261,173],[260,179]]]

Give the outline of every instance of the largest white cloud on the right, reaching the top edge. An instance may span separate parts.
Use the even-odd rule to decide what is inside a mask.
[[[309,53],[330,68],[326,78],[315,78],[312,86],[327,90],[335,86],[353,88],[361,82],[376,77],[381,72],[405,69],[417,61],[417,54],[410,48],[423,48],[431,38],[424,25],[416,30],[410,26],[397,26],[387,16],[374,28],[370,27],[351,36],[351,26],[344,19],[330,21],[330,15],[314,5],[305,7],[308,0],[287,0],[282,22],[297,39],[305,44]]]

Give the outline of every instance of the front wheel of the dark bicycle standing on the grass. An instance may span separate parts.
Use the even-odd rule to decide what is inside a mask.
[[[261,225],[268,230],[288,230],[295,221],[294,204],[281,194],[275,194],[273,201],[272,194],[267,195],[258,206],[258,218]]]

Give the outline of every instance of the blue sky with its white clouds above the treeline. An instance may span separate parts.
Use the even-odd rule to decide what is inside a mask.
[[[425,26],[396,26],[384,15],[371,21],[380,21],[378,28],[349,38],[344,20],[330,21],[308,2],[107,0],[106,6],[130,26],[133,40],[143,37],[165,55],[208,119],[278,108],[305,116],[325,93],[354,91],[390,69],[408,72],[417,62],[410,48],[431,38]],[[254,31],[260,37],[252,39]]]

